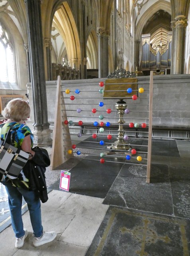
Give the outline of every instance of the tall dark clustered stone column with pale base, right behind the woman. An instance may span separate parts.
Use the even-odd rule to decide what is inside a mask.
[[[47,95],[41,26],[41,0],[25,0],[34,110],[34,144],[50,146],[51,130],[47,116]]]

